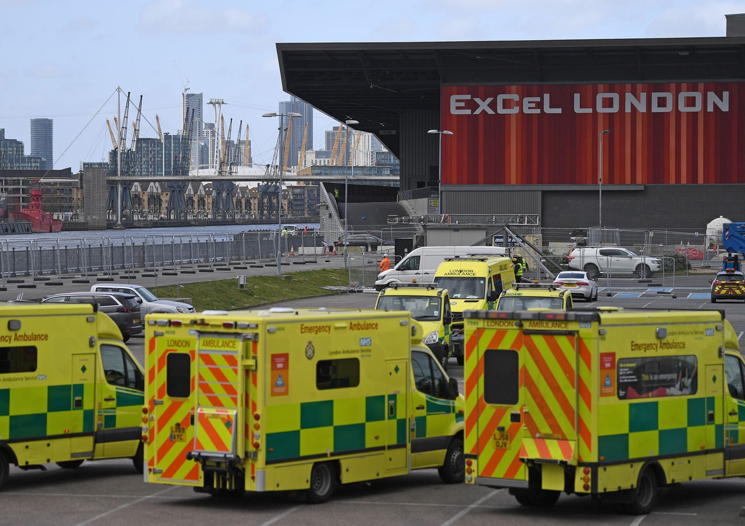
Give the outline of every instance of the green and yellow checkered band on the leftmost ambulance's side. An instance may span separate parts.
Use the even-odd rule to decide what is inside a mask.
[[[0,440],[93,432],[93,397],[93,384],[0,389]]]

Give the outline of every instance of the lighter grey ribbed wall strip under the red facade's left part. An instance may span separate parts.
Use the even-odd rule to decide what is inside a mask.
[[[443,214],[541,214],[541,192],[443,188]]]

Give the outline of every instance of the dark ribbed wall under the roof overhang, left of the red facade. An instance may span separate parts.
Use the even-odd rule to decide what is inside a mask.
[[[419,186],[437,186],[439,147],[437,135],[428,129],[440,129],[440,112],[410,110],[400,117],[401,190]]]

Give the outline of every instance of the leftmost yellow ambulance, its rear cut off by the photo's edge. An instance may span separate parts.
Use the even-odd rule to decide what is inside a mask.
[[[91,304],[0,305],[0,488],[9,466],[132,458],[142,472],[145,376]]]

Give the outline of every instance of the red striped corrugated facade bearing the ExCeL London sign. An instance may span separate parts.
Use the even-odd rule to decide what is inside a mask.
[[[597,185],[602,129],[603,184],[745,183],[744,97],[736,82],[443,86],[443,185]]]

